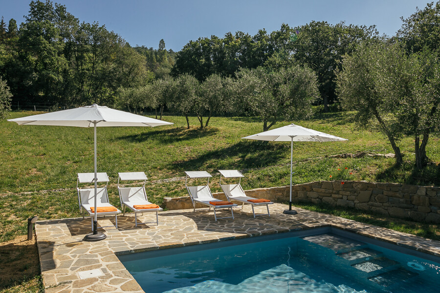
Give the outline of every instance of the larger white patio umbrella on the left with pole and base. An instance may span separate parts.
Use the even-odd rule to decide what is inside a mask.
[[[97,192],[97,163],[96,163],[96,127],[105,126],[160,126],[170,125],[171,122],[161,121],[145,116],[111,109],[93,104],[91,106],[62,110],[22,118],[9,119],[18,125],[49,125],[49,126],[76,126],[94,128],[94,155],[95,155],[95,217],[93,232],[84,237],[86,241],[98,241],[106,238],[104,233],[98,233],[96,192]]]

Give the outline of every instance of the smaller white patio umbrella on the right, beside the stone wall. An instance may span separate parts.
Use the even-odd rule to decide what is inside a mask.
[[[293,142],[336,142],[345,141],[347,139],[330,135],[324,132],[309,129],[303,126],[290,124],[287,126],[267,130],[261,133],[243,137],[246,139],[255,139],[271,142],[288,142],[290,141],[290,199],[289,209],[286,209],[286,214],[296,214],[292,210],[292,159],[293,159]]]

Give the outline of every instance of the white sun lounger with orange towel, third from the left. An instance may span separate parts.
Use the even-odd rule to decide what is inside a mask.
[[[202,205],[208,206],[209,210],[211,208],[214,208],[214,218],[216,219],[226,219],[226,218],[232,218],[234,219],[234,211],[232,210],[233,207],[237,207],[236,204],[229,204],[229,205],[222,205],[222,206],[216,206],[213,204],[210,204],[209,202],[221,202],[222,200],[214,198],[214,196],[211,193],[211,189],[209,189],[209,178],[212,177],[211,174],[209,174],[206,171],[185,171],[186,173],[186,180],[185,180],[185,187],[188,190],[188,194],[190,195],[191,202],[194,206],[194,211],[196,211],[196,203],[200,203]],[[208,178],[208,184],[203,186],[188,186],[188,178]],[[223,217],[223,218],[217,218],[216,210],[217,209],[231,209],[232,217]]]

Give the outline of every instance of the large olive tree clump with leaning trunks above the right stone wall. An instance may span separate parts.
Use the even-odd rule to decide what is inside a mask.
[[[403,162],[397,142],[404,135],[415,137],[416,166],[426,164],[440,102],[439,62],[432,53],[407,55],[400,43],[365,42],[344,57],[337,91],[346,109],[357,110],[358,125],[387,136],[397,165]]]

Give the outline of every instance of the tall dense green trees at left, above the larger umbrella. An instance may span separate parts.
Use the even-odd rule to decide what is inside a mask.
[[[64,5],[32,1],[20,28],[13,19],[0,23],[0,75],[14,103],[112,105],[119,87],[144,86],[160,68],[170,71],[173,60],[160,45],[159,61],[150,64],[142,48],[104,25],[80,22]]]

